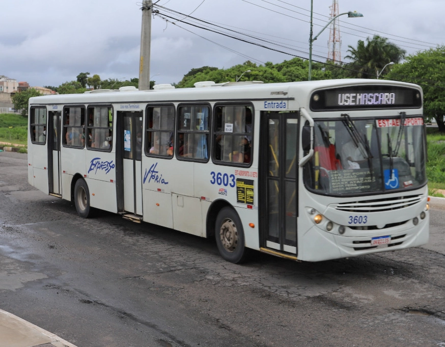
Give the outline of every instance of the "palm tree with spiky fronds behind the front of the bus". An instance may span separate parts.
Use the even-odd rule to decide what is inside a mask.
[[[351,77],[377,78],[377,73],[390,63],[399,63],[406,54],[406,51],[399,48],[394,43],[387,42],[387,38],[374,35],[365,42],[358,40],[357,48],[348,46],[349,55],[347,59],[352,60],[347,65],[350,69]],[[389,71],[385,70],[385,72]]]

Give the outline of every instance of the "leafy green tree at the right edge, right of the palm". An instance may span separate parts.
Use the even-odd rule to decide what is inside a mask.
[[[445,46],[430,48],[408,55],[406,62],[394,66],[387,74],[390,79],[416,83],[424,92],[424,115],[434,118],[439,132],[445,132]]]

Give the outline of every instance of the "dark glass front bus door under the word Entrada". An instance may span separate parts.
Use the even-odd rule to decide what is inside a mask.
[[[262,112],[260,216],[263,250],[297,254],[297,112]],[[265,128],[265,129],[264,129]],[[265,249],[264,249],[265,247]]]

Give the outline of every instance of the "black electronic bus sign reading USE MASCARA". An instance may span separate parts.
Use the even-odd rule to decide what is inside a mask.
[[[312,94],[311,109],[367,109],[421,107],[418,90],[388,86],[358,86],[318,91]]]

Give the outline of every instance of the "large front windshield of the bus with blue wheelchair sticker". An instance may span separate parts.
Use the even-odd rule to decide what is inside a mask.
[[[379,119],[315,120],[314,155],[304,184],[325,195],[395,192],[426,184],[421,115]]]

